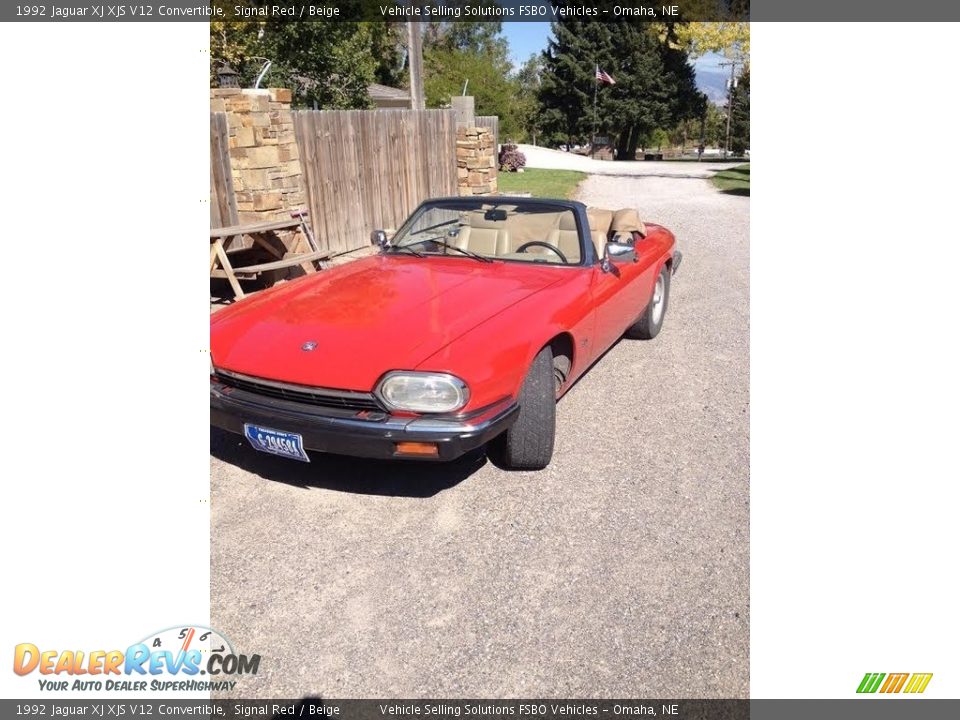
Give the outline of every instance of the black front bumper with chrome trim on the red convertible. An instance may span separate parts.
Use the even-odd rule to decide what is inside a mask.
[[[245,423],[297,433],[314,452],[381,459],[444,461],[484,445],[509,428],[519,406],[504,399],[459,417],[364,419],[350,410],[319,408],[279,400],[210,381],[210,423],[243,434]],[[396,450],[398,442],[436,443],[436,456],[411,456]]]

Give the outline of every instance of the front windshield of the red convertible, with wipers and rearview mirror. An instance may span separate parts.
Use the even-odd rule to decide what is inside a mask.
[[[573,210],[549,202],[491,202],[490,198],[422,206],[390,244],[392,252],[464,255],[578,265],[580,236]]]

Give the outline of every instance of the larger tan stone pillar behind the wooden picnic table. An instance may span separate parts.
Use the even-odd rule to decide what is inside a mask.
[[[241,223],[289,218],[306,207],[290,100],[285,88],[210,90],[210,111],[227,114]]]

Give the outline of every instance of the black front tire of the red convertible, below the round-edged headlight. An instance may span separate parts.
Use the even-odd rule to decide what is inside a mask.
[[[505,470],[543,470],[553,457],[557,395],[550,348],[539,352],[520,389],[513,425],[490,442],[491,460]]]

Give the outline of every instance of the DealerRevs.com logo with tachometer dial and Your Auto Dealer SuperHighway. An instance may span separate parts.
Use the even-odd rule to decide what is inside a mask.
[[[241,655],[221,633],[202,625],[151,633],[126,650],[41,650],[20,643],[13,671],[38,673],[41,690],[230,691],[256,675],[259,655]],[[72,679],[68,679],[72,678]]]

